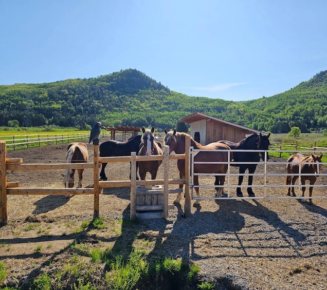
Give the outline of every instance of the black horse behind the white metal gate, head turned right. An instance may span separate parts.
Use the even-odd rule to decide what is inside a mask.
[[[259,162],[260,155],[259,152],[246,152],[246,151],[238,151],[238,150],[268,150],[270,146],[269,142],[270,133],[268,135],[253,133],[238,143],[221,140],[218,141],[220,143],[224,143],[228,145],[233,150],[234,162]],[[265,152],[261,151],[262,160],[265,160]],[[267,159],[269,159],[267,153]],[[236,189],[236,195],[238,197],[243,197],[243,193],[241,191],[241,185],[244,178],[244,172],[246,169],[249,170],[249,178],[248,178],[248,185],[247,193],[249,197],[255,197],[255,193],[252,190],[252,181],[253,181],[253,173],[255,173],[258,164],[234,164],[231,163],[232,166],[239,166],[239,184]],[[217,177],[216,177],[217,179]]]

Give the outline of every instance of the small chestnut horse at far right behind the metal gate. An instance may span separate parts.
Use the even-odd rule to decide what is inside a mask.
[[[286,185],[290,185],[291,180],[292,180],[292,185],[295,184],[295,182],[299,178],[299,175],[295,175],[295,174],[299,174],[299,164],[301,163],[300,176],[301,176],[301,184],[302,184],[302,197],[304,197],[306,180],[310,181],[309,196],[311,197],[313,185],[315,184],[317,177],[319,176],[319,173],[321,171],[321,164],[320,164],[321,158],[322,158],[322,154],[318,156],[313,153],[311,153],[311,155],[309,156],[304,156],[301,153],[295,153],[290,157],[288,157],[286,170],[287,173],[290,175],[286,176]],[[303,164],[304,162],[309,164]],[[292,194],[294,197],[296,196],[294,192],[294,187],[292,187]],[[287,195],[290,196],[290,187],[288,187]],[[304,199],[302,199],[302,201],[304,201]],[[309,199],[309,201],[312,203],[312,199]]]

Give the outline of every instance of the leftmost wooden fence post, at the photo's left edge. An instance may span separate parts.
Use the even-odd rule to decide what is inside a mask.
[[[7,222],[6,142],[0,141],[0,225],[6,225]]]

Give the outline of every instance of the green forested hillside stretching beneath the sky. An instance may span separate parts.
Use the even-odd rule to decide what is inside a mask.
[[[274,133],[327,127],[327,71],[286,92],[233,102],[170,91],[144,73],[128,69],[90,79],[0,86],[0,126],[58,125],[85,129],[105,126],[173,128],[195,111]]]

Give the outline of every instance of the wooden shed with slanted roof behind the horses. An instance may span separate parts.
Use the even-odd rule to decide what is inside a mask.
[[[230,123],[199,112],[190,114],[180,119],[180,121],[191,125],[190,135],[202,145],[219,140],[239,142],[248,134],[260,133],[258,130]]]

